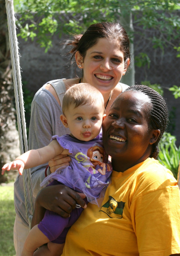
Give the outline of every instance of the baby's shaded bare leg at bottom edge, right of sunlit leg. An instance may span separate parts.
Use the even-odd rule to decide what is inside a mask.
[[[44,245],[37,249],[33,256],[60,256],[64,248],[64,243],[52,243],[48,242],[47,245]],[[29,256],[29,255],[27,255]]]

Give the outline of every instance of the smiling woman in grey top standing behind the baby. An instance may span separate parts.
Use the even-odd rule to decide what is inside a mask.
[[[120,79],[130,64],[129,44],[125,29],[118,23],[93,24],[83,35],[74,36],[69,45],[72,46],[71,54],[72,58],[75,57],[77,67],[83,70],[82,77],[49,81],[35,94],[29,129],[30,150],[48,145],[55,134],[62,136],[70,133],[68,128],[63,127],[59,116],[62,114],[63,95],[73,84],[90,83],[97,88],[103,95],[106,114],[108,113],[115,98],[128,87],[120,83]],[[43,179],[70,160],[67,156],[63,157],[63,160],[61,158],[62,156],[58,155],[52,159],[48,168],[47,164],[44,164],[31,169],[34,197],[39,192]],[[18,175],[14,184],[14,244],[18,256],[29,232],[23,191],[22,177]],[[62,209],[51,200],[56,197],[54,189],[50,188],[48,191],[52,206],[48,205],[47,208],[57,213],[62,212]],[[77,203],[85,204],[80,197]]]

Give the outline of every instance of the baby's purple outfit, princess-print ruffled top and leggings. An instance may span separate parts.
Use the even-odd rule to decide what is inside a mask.
[[[98,135],[91,141],[80,141],[69,134],[52,137],[71,153],[70,166],[62,167],[47,176],[41,186],[52,181],[49,185],[64,184],[75,191],[86,195],[85,202],[97,204],[97,198],[102,197],[110,181],[112,172],[108,155],[104,151],[102,139]],[[69,218],[63,218],[55,212],[46,210],[38,228],[46,237],[55,243],[64,243],[66,234],[72,224],[79,218],[83,208],[75,208]]]

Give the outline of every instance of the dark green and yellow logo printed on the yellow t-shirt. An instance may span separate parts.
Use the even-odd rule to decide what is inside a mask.
[[[105,212],[110,218],[122,219],[124,205],[125,202],[118,202],[112,196],[109,196],[109,200],[101,207],[99,211]]]

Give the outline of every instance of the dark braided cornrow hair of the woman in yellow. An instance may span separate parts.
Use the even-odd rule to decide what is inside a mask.
[[[152,144],[150,157],[157,159],[159,154],[159,142],[168,123],[168,107],[165,99],[152,88],[145,85],[134,85],[128,87],[126,91],[139,91],[148,96],[151,100],[152,108],[150,110],[149,128],[159,129],[160,135],[155,143]]]

